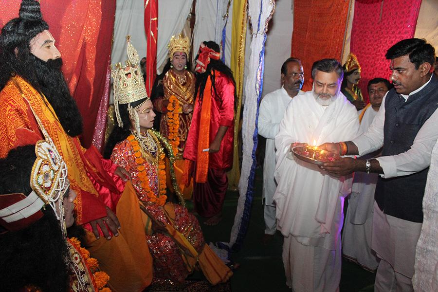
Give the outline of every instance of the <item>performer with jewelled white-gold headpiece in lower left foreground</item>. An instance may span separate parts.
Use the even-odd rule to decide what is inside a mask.
[[[67,238],[76,197],[67,165],[50,138],[34,136],[36,145],[19,146],[0,159],[0,287],[97,292],[105,283],[95,277],[104,272],[92,274],[95,259],[91,267],[78,239]]]

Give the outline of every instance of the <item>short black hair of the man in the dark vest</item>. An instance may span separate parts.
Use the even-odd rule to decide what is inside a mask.
[[[386,59],[392,60],[404,55],[409,55],[409,60],[418,70],[423,63],[429,63],[432,66],[435,63],[435,49],[426,40],[421,38],[406,38],[386,51]]]

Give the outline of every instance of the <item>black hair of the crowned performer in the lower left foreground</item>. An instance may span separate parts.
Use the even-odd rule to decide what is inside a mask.
[[[30,176],[36,160],[35,145],[20,146],[0,160],[0,194],[30,194]],[[70,272],[65,262],[67,245],[51,207],[43,217],[18,231],[0,235],[1,291],[21,291],[33,285],[41,291],[69,291]]]

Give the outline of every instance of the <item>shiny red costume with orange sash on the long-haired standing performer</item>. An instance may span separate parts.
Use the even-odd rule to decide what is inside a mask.
[[[206,181],[195,179],[193,192],[195,209],[203,217],[212,217],[222,209],[225,191],[228,187],[225,172],[233,165],[235,85],[233,80],[224,74],[218,71],[213,71],[213,74],[215,86],[211,85],[210,77],[208,77],[202,100],[199,95],[196,99],[183,154],[185,159],[195,164],[208,164],[208,173],[204,176]],[[216,89],[217,94],[213,88]],[[209,112],[208,109],[202,109],[206,104],[210,104]],[[209,125],[206,125],[208,119]],[[201,152],[199,144],[207,145],[205,148],[208,148],[208,145],[215,139],[220,126],[226,126],[228,129],[220,143],[219,151],[216,153]],[[207,128],[207,137],[202,136],[205,133],[204,128]],[[207,157],[201,157],[201,155]],[[199,171],[198,166],[197,171]]]

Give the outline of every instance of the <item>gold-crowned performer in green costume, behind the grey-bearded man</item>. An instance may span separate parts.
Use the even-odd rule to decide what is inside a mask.
[[[362,110],[365,107],[364,97],[361,89],[357,86],[361,80],[362,69],[356,55],[350,53],[342,68],[344,69],[344,80],[342,81],[341,92],[357,110]]]

